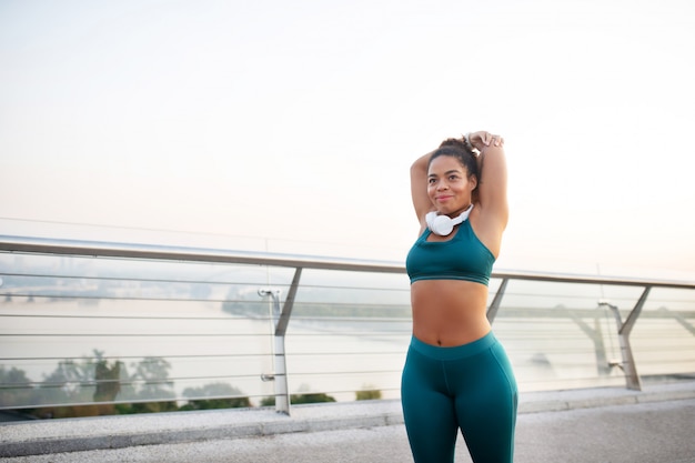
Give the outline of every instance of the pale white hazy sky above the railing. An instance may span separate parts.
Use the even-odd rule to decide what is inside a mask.
[[[689,278],[694,4],[0,0],[0,234],[403,260],[485,129],[497,268]]]

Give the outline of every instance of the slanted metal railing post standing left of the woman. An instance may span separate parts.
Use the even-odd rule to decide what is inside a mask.
[[[275,382],[275,411],[278,413],[290,414],[290,386],[288,380],[288,362],[284,349],[284,340],[288,331],[288,324],[290,323],[290,316],[292,314],[292,308],[294,305],[294,296],[299,288],[300,278],[302,275],[302,269],[296,268],[294,271],[294,278],[292,279],[292,285],[288,291],[288,299],[285,299],[282,311],[280,311],[280,291],[259,290],[259,295],[270,295],[273,299],[273,322],[275,325],[274,333],[274,352],[273,352],[273,369],[272,375],[261,375],[263,381]]]

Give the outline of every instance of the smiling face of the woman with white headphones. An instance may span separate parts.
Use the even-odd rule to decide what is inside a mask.
[[[440,214],[457,215],[471,204],[477,182],[469,170],[451,155],[432,160],[427,171],[427,194]]]

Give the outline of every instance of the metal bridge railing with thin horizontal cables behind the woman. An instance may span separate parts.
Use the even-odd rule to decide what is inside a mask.
[[[397,396],[410,340],[404,272],[391,262],[0,235],[0,410],[232,399],[289,414],[301,393]],[[694,373],[693,290],[495,271],[487,316],[522,387],[639,390],[636,359],[651,376]],[[633,342],[639,319],[645,331]]]

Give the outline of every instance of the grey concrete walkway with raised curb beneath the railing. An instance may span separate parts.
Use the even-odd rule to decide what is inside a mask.
[[[406,462],[402,423],[397,401],[294,406],[292,416],[221,410],[7,423],[0,425],[0,461]],[[543,460],[538,455],[548,432],[562,434],[570,445],[575,440],[575,447],[584,439],[586,451],[607,440],[602,454],[612,446],[635,450],[639,443],[647,444],[642,453],[657,451],[648,444],[657,439],[669,449],[671,460],[659,453],[654,459],[695,462],[695,382],[649,385],[642,392],[605,387],[521,395],[516,461],[649,462],[634,455],[620,460],[621,452],[605,460],[573,460],[570,454],[557,460],[546,452],[551,456]],[[456,462],[470,461],[460,444]],[[331,451],[341,453],[331,456]],[[525,452],[533,460],[521,460]]]

